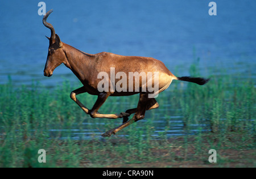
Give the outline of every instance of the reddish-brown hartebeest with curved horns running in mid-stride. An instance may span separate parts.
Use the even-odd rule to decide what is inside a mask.
[[[52,24],[46,22],[51,12],[52,10],[48,11],[43,18],[43,24],[47,28],[51,29],[51,37],[47,37],[49,40],[49,48],[46,66],[44,68],[44,76],[51,76],[53,70],[61,63],[64,63],[64,65],[71,69],[83,84],[81,88],[72,91],[70,97],[80,106],[80,108],[82,108],[82,110],[84,110],[86,114],[89,114],[92,118],[123,118],[122,125],[102,134],[103,137],[110,137],[110,135],[117,133],[124,127],[129,126],[131,123],[142,120],[146,110],[158,108],[159,104],[156,102],[155,98],[148,97],[152,91],[149,92],[141,90],[143,86],[141,79],[137,81],[139,91],[135,90],[135,83],[133,83],[132,91],[128,90],[128,87],[127,90],[120,92],[110,90],[110,88],[113,87],[113,83],[108,80],[108,83],[110,83],[109,90],[100,92],[97,88],[98,83],[101,81],[101,79],[98,79],[98,74],[100,72],[103,71],[110,76],[110,67],[114,67],[115,74],[122,72],[127,74],[127,76],[129,76],[130,72],[137,72],[140,74],[142,72],[158,73],[158,91],[156,94],[166,90],[170,86],[172,80],[183,80],[200,85],[207,83],[209,80],[189,76],[183,76],[180,78],[176,77],[167,69],[164,63],[154,58],[119,56],[117,54],[107,52],[97,54],[81,52],[80,50],[77,50],[76,48],[73,48],[72,46],[60,41],[60,37],[55,34]],[[154,76],[152,78],[154,78]],[[117,83],[117,80],[115,80],[114,83]],[[155,81],[151,85],[156,85],[154,83]],[[88,92],[90,95],[98,96],[96,103],[90,110],[76,98],[76,95],[85,92]],[[109,96],[129,96],[137,93],[139,93],[139,102],[137,108],[126,110],[125,113],[120,114],[98,113],[98,109],[100,109],[101,105],[105,103]],[[134,116],[129,120],[128,117],[133,113],[135,113]]]

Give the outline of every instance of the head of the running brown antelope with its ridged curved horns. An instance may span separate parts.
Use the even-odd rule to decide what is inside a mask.
[[[48,56],[46,61],[46,66],[44,67],[44,76],[51,76],[53,70],[56,69],[61,63],[65,60],[65,53],[63,51],[63,43],[60,41],[60,37],[55,34],[55,30],[52,24],[46,22],[49,14],[52,13],[53,10],[50,10],[44,15],[43,24],[51,29],[51,37],[47,37],[49,40],[49,48],[48,48]]]

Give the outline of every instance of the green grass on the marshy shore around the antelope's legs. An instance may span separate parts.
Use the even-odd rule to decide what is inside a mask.
[[[198,76],[196,64],[191,75]],[[92,119],[70,98],[72,90],[81,87],[64,82],[48,89],[39,83],[14,87],[10,82],[0,86],[0,167],[256,167],[255,97],[253,80],[232,76],[211,76],[205,86],[173,82],[156,99],[162,109],[147,112],[146,118],[118,132],[111,138],[59,140],[67,131],[52,136],[51,129],[87,129],[101,133],[121,123],[119,120]],[[79,95],[92,108],[96,96]],[[101,113],[119,113],[134,108],[138,96],[109,97]],[[168,106],[170,105],[170,106]],[[166,130],[155,134],[154,121],[166,117]],[[198,127],[196,135],[168,138],[170,116],[183,116],[184,129]],[[124,135],[124,137],[123,137]],[[51,139],[49,139],[51,138]],[[38,163],[38,150],[47,151],[47,163]],[[217,150],[218,163],[208,163],[208,151]]]

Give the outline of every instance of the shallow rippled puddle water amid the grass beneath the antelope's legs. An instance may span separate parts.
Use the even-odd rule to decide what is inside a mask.
[[[179,137],[183,135],[193,135],[198,133],[204,133],[205,131],[210,131],[209,126],[200,124],[200,125],[187,125],[184,126],[182,116],[176,117],[171,116],[168,118],[180,118],[180,120],[154,120],[152,122],[152,126],[155,126],[153,134],[151,134],[152,138],[158,139],[161,133],[164,133],[166,137]],[[107,122],[106,120],[102,120]],[[100,122],[82,122],[80,125],[77,123],[73,124],[71,129],[51,129],[48,130],[50,135],[49,139],[72,139],[72,140],[87,140],[87,139],[98,139],[102,138],[101,134],[105,133],[104,129],[106,123]],[[119,120],[121,122],[121,120]],[[136,130],[140,130],[146,121],[140,121]],[[167,125],[168,123],[168,125]],[[97,125],[97,129],[88,129],[88,126],[95,126]],[[115,126],[120,125],[120,123],[115,123]],[[80,126],[80,129],[77,129],[77,126]],[[166,127],[170,126],[170,127]],[[117,133],[118,137],[125,137],[126,134]],[[144,135],[142,135],[145,137]]]

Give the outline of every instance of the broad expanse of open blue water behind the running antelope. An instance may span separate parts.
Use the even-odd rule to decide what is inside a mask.
[[[64,65],[43,76],[50,31],[38,15],[39,1],[0,2],[0,83],[32,80],[56,86],[77,81]],[[48,22],[61,40],[87,53],[112,52],[160,59],[175,75],[189,75],[200,57],[201,73],[255,78],[256,1],[215,1],[217,16],[203,0],[44,1]],[[63,78],[64,77],[64,78]]]

